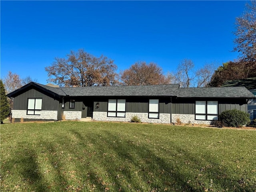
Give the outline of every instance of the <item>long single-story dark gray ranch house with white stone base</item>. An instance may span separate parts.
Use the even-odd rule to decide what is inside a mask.
[[[28,83],[7,95],[20,121],[91,117],[97,121],[210,124],[222,111],[247,111],[255,96],[245,87],[180,88],[178,84],[109,87],[49,87]]]

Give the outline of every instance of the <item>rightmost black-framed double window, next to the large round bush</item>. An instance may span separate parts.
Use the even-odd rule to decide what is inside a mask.
[[[218,120],[218,101],[196,101],[196,120]]]

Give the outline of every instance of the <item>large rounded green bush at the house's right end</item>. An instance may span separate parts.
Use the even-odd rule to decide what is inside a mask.
[[[237,109],[223,111],[219,118],[227,127],[241,127],[250,123],[250,115]]]

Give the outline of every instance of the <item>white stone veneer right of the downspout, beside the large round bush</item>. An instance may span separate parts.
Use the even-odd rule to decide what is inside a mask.
[[[172,114],[172,123],[177,123],[177,119],[180,118],[182,123],[196,123],[210,125],[212,121],[195,120],[195,115],[188,114]]]

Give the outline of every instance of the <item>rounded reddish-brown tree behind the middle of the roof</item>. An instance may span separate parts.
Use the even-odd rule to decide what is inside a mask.
[[[129,69],[120,72],[120,79],[123,85],[160,85],[169,84],[170,79],[166,77],[162,68],[156,63],[138,61]]]

